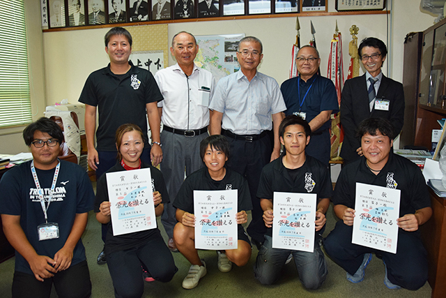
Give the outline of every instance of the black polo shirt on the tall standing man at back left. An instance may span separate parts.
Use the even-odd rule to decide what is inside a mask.
[[[114,135],[119,126],[137,124],[148,146],[146,104],[162,100],[152,73],[131,66],[125,75],[115,75],[110,64],[89,75],[79,98],[81,103],[98,107],[99,126],[96,131],[98,151],[116,151]]]

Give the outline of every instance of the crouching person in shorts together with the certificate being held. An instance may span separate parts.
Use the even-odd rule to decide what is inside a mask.
[[[183,281],[185,289],[197,287],[200,278],[206,275],[206,264],[204,260],[200,260],[197,251],[196,241],[199,239],[196,238],[196,229],[200,229],[199,236],[203,235],[203,239],[201,239],[203,243],[199,247],[207,245],[207,249],[217,250],[220,271],[230,271],[232,263],[237,266],[246,265],[251,257],[251,244],[242,226],[247,222],[246,211],[252,209],[249,188],[247,181],[240,174],[224,167],[229,158],[229,142],[226,137],[222,135],[206,137],[200,143],[200,156],[206,167],[202,167],[201,170],[192,173],[185,179],[174,202],[178,220],[174,228],[176,247],[192,264]],[[233,190],[237,191],[238,210],[235,216],[228,216],[229,211],[226,210],[231,209],[227,208],[231,204],[223,201],[230,195],[222,195],[222,191],[231,192]],[[194,208],[194,203],[197,203],[194,201],[198,199],[197,191],[208,191],[205,194],[208,202],[204,202],[199,211],[196,207]],[[219,191],[217,200],[215,200],[213,191]],[[203,217],[203,209],[208,210],[204,214],[206,219],[199,220],[199,216]],[[216,214],[219,216],[218,218],[215,217]],[[231,236],[226,236],[227,233],[223,230],[227,225],[235,223],[238,226],[237,234],[234,233],[234,236],[238,241],[232,241]],[[206,228],[206,231],[203,227]],[[206,235],[210,236],[206,237]],[[233,242],[234,249],[218,250],[221,249],[219,247],[231,246],[231,242]]]

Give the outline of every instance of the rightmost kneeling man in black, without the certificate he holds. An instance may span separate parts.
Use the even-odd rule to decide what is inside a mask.
[[[431,218],[431,200],[420,168],[390,150],[394,135],[392,123],[387,119],[369,118],[361,122],[357,136],[364,156],[346,165],[339,174],[332,201],[334,213],[341,221],[325,239],[324,247],[330,258],[347,271],[351,283],[364,279],[371,253],[379,253],[385,266],[387,288],[418,290],[426,283],[428,274],[426,250],[418,228]],[[352,243],[357,183],[401,191],[397,253]]]

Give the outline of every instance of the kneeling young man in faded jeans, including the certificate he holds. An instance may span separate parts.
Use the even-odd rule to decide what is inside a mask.
[[[319,288],[327,276],[321,237],[315,237],[314,230],[323,232],[332,184],[327,166],[305,154],[310,133],[309,124],[301,117],[285,117],[279,126],[285,151],[261,173],[257,197],[268,230],[254,274],[264,285],[279,279],[291,255],[305,288]]]

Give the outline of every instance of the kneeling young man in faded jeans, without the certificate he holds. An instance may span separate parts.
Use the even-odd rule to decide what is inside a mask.
[[[268,230],[256,258],[254,275],[263,285],[271,285],[280,278],[282,268],[290,254],[293,255],[299,279],[305,288],[319,288],[327,276],[327,262],[321,250],[320,234],[327,221],[325,212],[330,204],[333,190],[328,168],[321,161],[307,155],[305,147],[310,141],[310,133],[311,129],[307,121],[296,115],[285,117],[279,126],[280,142],[284,145],[285,152],[262,170],[257,197],[260,198],[263,221]],[[274,218],[272,207],[276,191],[316,193],[318,200],[316,218],[314,218],[316,235],[314,251],[311,253],[272,248],[272,220]]]

